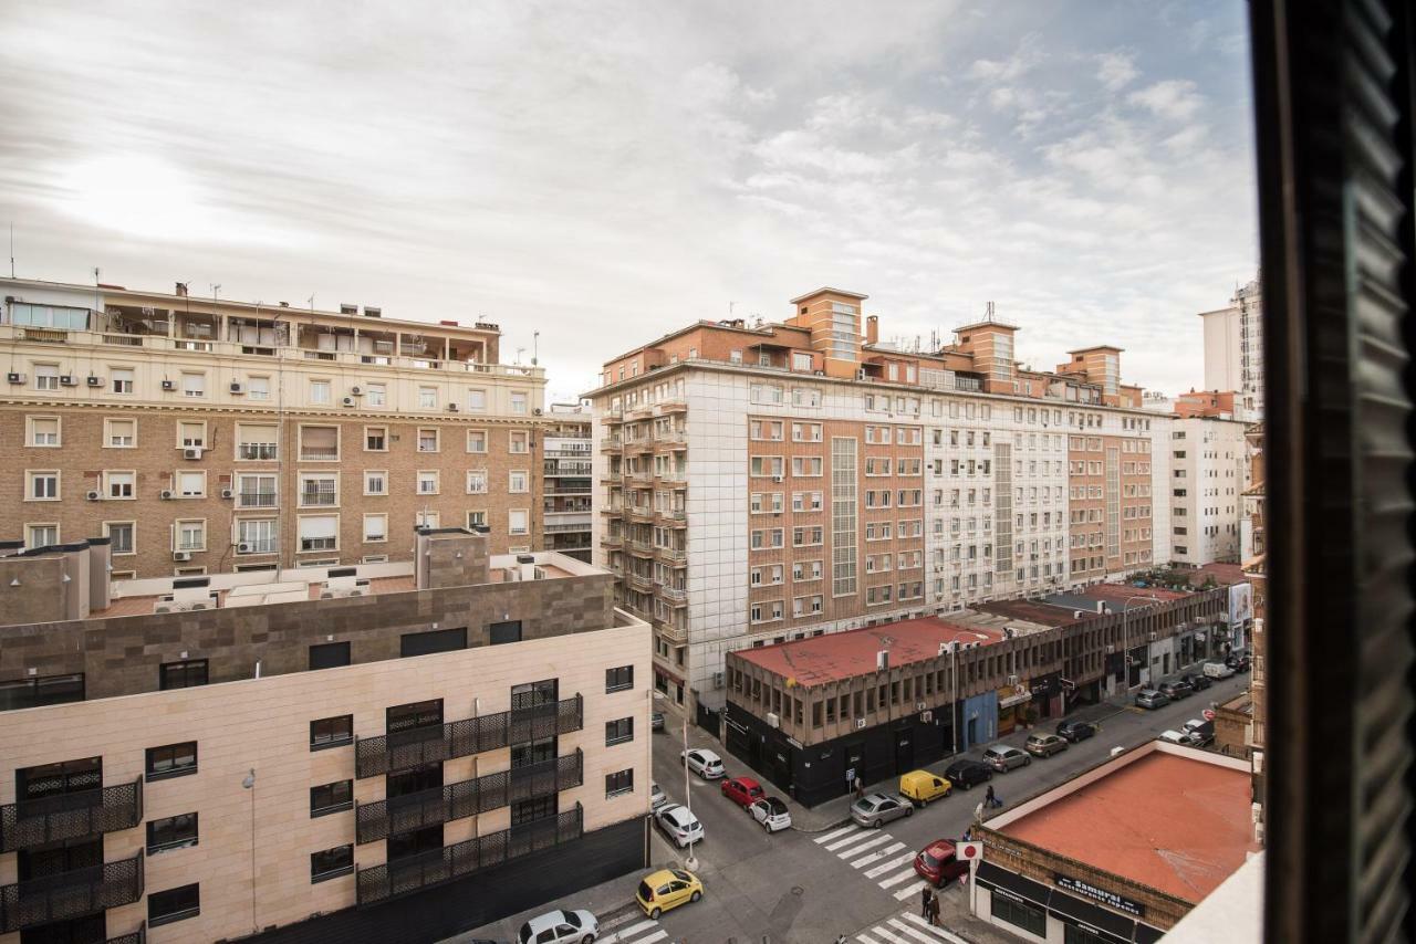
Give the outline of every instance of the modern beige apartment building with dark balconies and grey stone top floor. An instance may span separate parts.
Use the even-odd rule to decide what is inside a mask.
[[[489,543],[112,585],[109,539],[0,556],[0,943],[429,941],[641,868],[650,627]]]

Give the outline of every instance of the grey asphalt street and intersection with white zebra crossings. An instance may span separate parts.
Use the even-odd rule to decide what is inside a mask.
[[[1225,702],[1246,686],[1247,677],[1238,675],[1154,712],[1106,706],[1079,712],[1075,716],[1104,716],[1096,737],[1054,757],[1034,759],[1028,767],[995,774],[994,790],[1004,802],[1022,800],[1096,764],[1113,747],[1130,747],[1178,727],[1185,719],[1199,716],[1211,702]],[[1017,732],[1003,743],[1021,746],[1025,736],[1027,732]],[[681,730],[673,725],[654,735],[654,776],[671,802],[684,802],[681,740]],[[729,776],[741,771],[741,764],[702,732],[690,727],[690,743],[715,749]],[[976,749],[966,756],[977,759],[981,753]],[[947,763],[933,764],[933,769],[942,770]],[[643,928],[641,934],[649,937],[664,931],[658,938],[664,944],[760,944],[763,940],[831,944],[837,934],[855,940],[857,933],[898,919],[902,910],[918,909],[920,886],[910,865],[915,852],[935,839],[961,835],[984,795],[983,787],[957,791],[878,831],[837,827],[817,834],[793,829],[766,835],[750,814],[719,794],[716,783],[692,776],[688,790],[694,814],[704,824],[705,841],[694,851],[705,896],[697,904],[667,913],[658,928]],[[684,858],[684,851],[654,831],[656,866],[681,863]],[[633,896],[636,882],[637,877],[624,880],[626,900]],[[634,944],[644,940],[641,934],[626,934],[622,940]]]

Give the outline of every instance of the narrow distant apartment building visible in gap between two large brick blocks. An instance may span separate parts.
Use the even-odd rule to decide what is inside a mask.
[[[581,403],[551,403],[541,439],[545,457],[541,546],[589,562],[590,502],[595,498],[590,487],[595,473],[590,408]]]

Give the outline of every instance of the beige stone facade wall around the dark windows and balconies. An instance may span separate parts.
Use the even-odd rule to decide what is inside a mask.
[[[204,688],[7,712],[0,719],[0,804],[14,802],[17,767],[103,756],[105,784],[143,773],[144,750],[187,740],[198,743],[198,773],[144,784],[144,817],[157,819],[197,811],[197,846],[147,858],[146,890],[201,883],[201,914],[149,931],[154,944],[239,937],[255,924],[286,924],[316,911],[354,904],[354,876],[310,885],[310,853],[354,842],[354,812],[310,818],[310,787],[354,778],[354,749],[310,752],[313,719],[351,713],[360,737],[385,732],[385,709],[443,699],[445,720],[510,708],[511,686],[559,679],[561,698],[585,699],[585,726],[561,737],[561,753],[585,752],[585,783],[561,794],[561,808],[581,802],[585,829],[649,811],[650,630],[633,624],[564,638],[534,640],[321,672],[228,682]],[[634,688],[606,693],[605,669],[634,665]],[[605,747],[605,722],[633,716],[634,740]],[[503,749],[445,764],[445,783],[496,773],[510,766]],[[255,769],[255,791],[241,785]],[[633,769],[634,791],[605,798],[605,776]],[[358,802],[382,798],[382,777],[354,781]],[[445,842],[508,825],[503,808],[447,824]],[[252,860],[252,822],[255,856]],[[130,858],[144,844],[144,828],[110,834],[105,858]],[[358,868],[384,860],[384,844],[355,845]],[[0,885],[16,880],[16,855],[0,856]],[[146,917],[146,900],[109,913],[109,933],[126,933]],[[14,944],[18,934],[0,936]]]

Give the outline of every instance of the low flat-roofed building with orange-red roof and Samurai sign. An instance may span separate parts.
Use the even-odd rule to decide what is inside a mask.
[[[1150,742],[990,817],[976,916],[1029,941],[1148,944],[1259,846],[1249,766]]]

